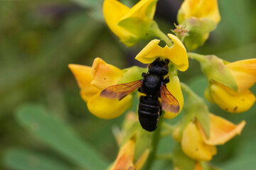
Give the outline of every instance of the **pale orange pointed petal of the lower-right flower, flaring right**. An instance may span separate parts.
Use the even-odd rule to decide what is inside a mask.
[[[203,128],[198,128],[203,135],[203,140],[208,145],[223,145],[228,140],[231,140],[235,135],[240,135],[245,126],[245,120],[242,120],[238,125],[230,123],[230,121],[221,118],[218,115],[210,113],[210,137],[207,139]]]

